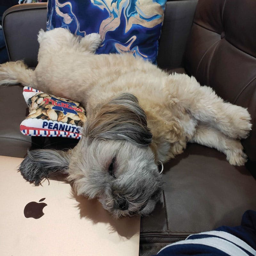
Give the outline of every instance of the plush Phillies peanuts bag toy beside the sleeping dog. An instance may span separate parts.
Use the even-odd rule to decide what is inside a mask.
[[[20,131],[29,136],[81,138],[86,120],[80,103],[24,87],[23,96],[29,115],[20,124]]]

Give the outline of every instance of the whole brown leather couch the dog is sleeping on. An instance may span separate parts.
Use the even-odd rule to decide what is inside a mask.
[[[36,35],[46,28],[46,5],[24,4],[4,13],[10,60],[36,66]],[[253,0],[168,1],[158,65],[187,72],[225,100],[248,108],[253,128],[243,140],[249,160],[230,165],[215,149],[188,144],[164,166],[164,191],[155,211],[141,218],[140,255],[221,225],[240,224],[256,210],[256,2]],[[68,148],[76,140],[26,137],[19,131],[28,114],[20,86],[0,88],[0,155],[24,157],[27,149]],[[234,113],[235,114],[235,113]]]

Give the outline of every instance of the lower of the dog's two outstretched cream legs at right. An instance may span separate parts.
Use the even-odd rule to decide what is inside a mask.
[[[243,152],[243,146],[239,140],[228,138],[222,132],[207,124],[200,123],[189,142],[216,148],[227,156],[228,162],[232,165],[244,165],[247,161],[247,156]]]

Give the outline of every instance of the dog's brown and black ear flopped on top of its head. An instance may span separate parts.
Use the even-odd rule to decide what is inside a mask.
[[[152,141],[146,114],[131,93],[122,93],[101,106],[86,121],[84,135],[89,140],[127,140],[139,146]]]

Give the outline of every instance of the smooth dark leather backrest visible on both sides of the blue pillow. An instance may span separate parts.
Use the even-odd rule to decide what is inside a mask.
[[[180,68],[197,0],[168,0],[165,9],[157,63],[159,67]],[[36,67],[39,29],[46,29],[46,3],[21,4],[4,13],[3,28],[10,60],[24,60]]]

